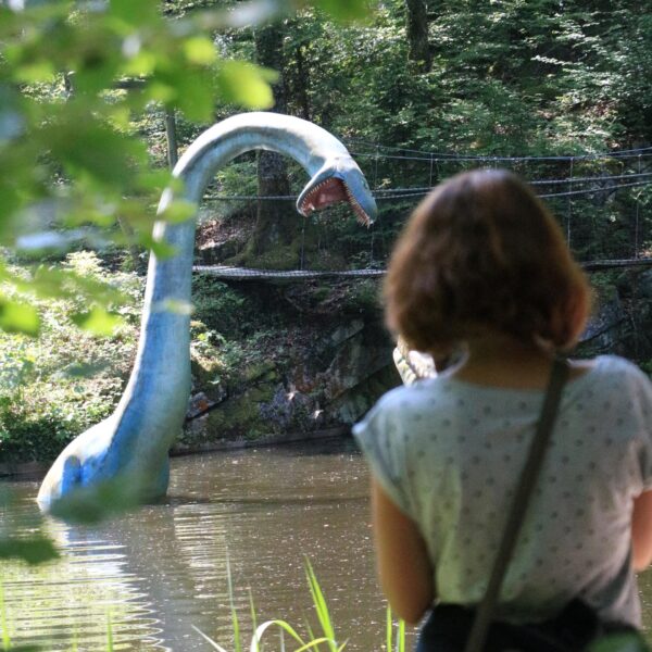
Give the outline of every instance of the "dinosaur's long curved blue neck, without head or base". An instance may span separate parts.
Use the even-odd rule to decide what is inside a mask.
[[[249,113],[208,129],[174,170],[184,180],[184,199],[199,205],[217,168],[252,149],[269,149],[296,159],[314,175],[327,156],[346,154],[326,130],[299,118]],[[159,213],[175,199],[163,193]],[[117,406],[113,450],[129,450],[134,460],[151,464],[167,454],[183,425],[190,392],[190,304],[196,215],[180,224],[159,222],[154,238],[172,244],[173,258],[150,256],[140,341],[134,371]],[[171,428],[171,425],[177,424]],[[164,435],[168,434],[168,435]],[[123,455],[124,453],[117,453]],[[136,462],[135,462],[136,463]]]

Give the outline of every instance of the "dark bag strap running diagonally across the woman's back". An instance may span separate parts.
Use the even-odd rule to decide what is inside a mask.
[[[537,423],[537,430],[531,441],[525,466],[521,472],[512,509],[507,516],[507,523],[496,555],[496,561],[493,562],[489,584],[487,585],[487,591],[485,592],[482,602],[480,602],[477,609],[471,634],[468,635],[466,645],[464,647],[464,652],[481,652],[485,644],[487,629],[489,628],[493,616],[496,603],[498,602],[500,589],[516,546],[525,512],[535,485],[537,484],[537,479],[539,478],[546,449],[550,441],[550,436],[552,435],[552,428],[556,417],[560,398],[562,396],[562,388],[568,378],[568,362],[562,358],[555,358],[546,389],[543,406],[541,408],[541,414]]]

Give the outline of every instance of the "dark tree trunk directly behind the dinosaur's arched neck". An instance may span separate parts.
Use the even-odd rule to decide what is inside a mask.
[[[262,27],[254,34],[258,63],[276,70],[280,75],[273,86],[275,100],[273,111],[277,113],[287,112],[287,91],[283,77],[283,37],[284,29],[280,24]],[[258,188],[261,197],[290,193],[286,162],[280,154],[259,152]],[[298,223],[292,203],[291,200],[259,200],[255,229],[248,247],[248,254],[264,254],[271,249],[292,242]]]

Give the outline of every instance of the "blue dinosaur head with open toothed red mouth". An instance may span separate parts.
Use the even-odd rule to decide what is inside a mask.
[[[358,220],[366,226],[376,218],[376,201],[369,185],[355,161],[344,155],[326,161],[303,188],[297,200],[297,210],[308,216],[313,211],[339,202],[347,202]]]

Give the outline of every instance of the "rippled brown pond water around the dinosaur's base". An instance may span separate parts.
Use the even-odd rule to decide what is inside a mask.
[[[317,630],[304,559],[311,561],[347,650],[385,642],[386,603],[375,578],[368,477],[350,440],[176,457],[168,499],[100,526],[47,519],[57,563],[2,563],[12,643],[45,650],[210,650],[195,627],[231,652],[227,560],[249,649],[259,624],[284,618]],[[38,521],[38,482],[12,482],[3,526]],[[249,636],[247,636],[249,635]],[[411,635],[409,635],[411,636]],[[269,651],[280,649],[271,634]],[[76,645],[76,648],[75,648]]]

